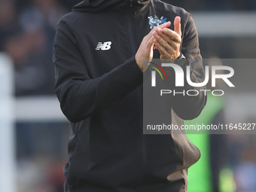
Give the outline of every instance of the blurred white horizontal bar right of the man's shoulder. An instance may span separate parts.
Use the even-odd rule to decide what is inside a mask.
[[[196,12],[192,17],[200,37],[248,37],[256,35],[255,12]]]

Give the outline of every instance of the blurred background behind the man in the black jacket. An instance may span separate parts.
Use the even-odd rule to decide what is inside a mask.
[[[0,0],[0,191],[63,191],[71,130],[54,95],[53,38],[78,2]],[[164,2],[192,14],[203,58],[256,59],[255,0]],[[247,78],[256,70],[233,67]],[[209,99],[209,122],[256,123],[253,82],[228,99]],[[189,169],[189,192],[256,191],[256,135],[188,137],[202,152]]]

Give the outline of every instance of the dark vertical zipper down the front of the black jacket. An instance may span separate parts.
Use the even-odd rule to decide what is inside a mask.
[[[133,8],[133,0],[130,0],[130,7]],[[132,26],[132,20],[133,20],[133,14],[134,9],[132,9],[132,14],[130,14],[129,18],[129,26],[128,26],[128,32],[129,32],[129,38],[130,38],[130,45],[132,49],[133,55],[136,55],[136,48],[134,44],[134,38],[133,38],[133,26]],[[139,87],[137,89],[137,95],[139,103],[143,103],[142,99],[142,87]],[[146,170],[147,170],[147,156],[146,156],[146,141],[145,141],[145,135],[143,134],[143,108],[141,105],[139,105],[139,127],[140,127],[140,134],[142,137],[142,192],[146,192],[147,190],[147,184],[146,184]]]

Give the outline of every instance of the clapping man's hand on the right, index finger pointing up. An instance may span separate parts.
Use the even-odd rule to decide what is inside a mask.
[[[175,17],[174,31],[158,27],[153,36],[154,44],[161,54],[160,59],[177,59],[181,54],[181,17]]]

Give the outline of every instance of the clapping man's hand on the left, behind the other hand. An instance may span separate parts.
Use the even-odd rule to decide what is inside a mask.
[[[160,29],[167,28],[171,26],[170,22],[163,23],[159,27]],[[139,66],[139,69],[141,69],[142,72],[145,72],[145,70],[148,69],[148,62],[151,62],[153,59],[153,45],[154,45],[154,32],[156,31],[157,27],[154,27],[151,32],[148,33],[143,39],[142,43],[139,46],[139,49],[136,53],[135,59],[136,63]]]

